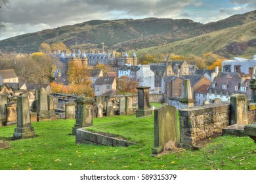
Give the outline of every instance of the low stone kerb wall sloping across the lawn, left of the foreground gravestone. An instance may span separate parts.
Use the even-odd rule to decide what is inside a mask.
[[[121,139],[116,139],[114,137],[107,137],[98,133],[86,131],[85,129],[76,129],[75,143],[100,144],[106,146],[131,146],[135,144],[133,142],[127,142]]]

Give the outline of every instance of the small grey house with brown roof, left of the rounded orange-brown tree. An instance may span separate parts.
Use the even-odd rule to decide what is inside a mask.
[[[95,95],[113,95],[116,93],[115,77],[99,77],[95,82]]]

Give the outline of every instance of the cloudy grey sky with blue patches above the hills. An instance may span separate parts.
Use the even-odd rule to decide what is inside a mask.
[[[1,0],[0,0],[1,1]],[[203,24],[256,9],[255,0],[9,0],[0,14],[0,40],[73,25],[121,18],[189,18]]]

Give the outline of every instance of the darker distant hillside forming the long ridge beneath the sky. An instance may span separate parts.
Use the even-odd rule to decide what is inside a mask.
[[[41,42],[64,42],[70,49],[100,48],[132,50],[161,46],[256,20],[256,10],[218,22],[200,24],[188,19],[145,18],[140,20],[91,20],[81,24],[46,29],[0,41],[4,52],[35,52]]]

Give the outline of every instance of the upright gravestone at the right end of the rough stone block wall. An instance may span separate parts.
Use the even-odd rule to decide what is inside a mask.
[[[230,125],[248,124],[247,96],[235,94],[230,96]]]

